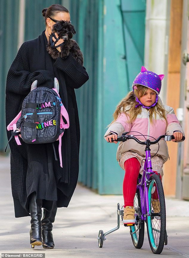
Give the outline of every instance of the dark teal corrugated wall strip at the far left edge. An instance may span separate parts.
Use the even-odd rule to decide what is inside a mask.
[[[11,6],[11,8],[10,8]],[[0,1],[0,152],[7,144],[5,126],[5,85],[8,69],[17,53],[19,0]]]

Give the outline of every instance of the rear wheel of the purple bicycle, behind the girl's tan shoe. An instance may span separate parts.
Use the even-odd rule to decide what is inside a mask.
[[[137,200],[136,200],[137,199]],[[137,189],[137,192],[135,194],[135,199],[134,199],[134,206],[139,206],[140,211],[141,211],[141,203],[140,203],[140,191]],[[139,225],[134,225],[130,227],[130,233],[134,232]],[[141,222],[139,230],[131,234],[131,239],[133,242],[133,245],[135,248],[140,249],[143,245],[144,242],[144,221]]]

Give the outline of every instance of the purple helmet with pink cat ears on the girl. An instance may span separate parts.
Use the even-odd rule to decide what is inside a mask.
[[[155,74],[154,72],[148,71],[144,66],[141,67],[141,72],[134,79],[132,87],[135,85],[142,85],[147,88],[152,89],[158,95],[162,87],[162,80],[164,74]],[[134,91],[134,88],[133,88]]]

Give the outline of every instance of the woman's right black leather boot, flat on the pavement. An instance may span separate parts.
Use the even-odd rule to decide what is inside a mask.
[[[47,202],[47,201],[46,201]],[[55,221],[57,212],[57,201],[48,201],[48,207],[44,208],[42,223],[43,248],[54,248],[52,238],[52,223]]]

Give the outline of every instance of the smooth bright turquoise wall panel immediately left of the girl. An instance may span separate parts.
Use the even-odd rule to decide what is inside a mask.
[[[100,164],[98,170],[98,190],[101,194],[122,193],[123,171],[116,161],[117,144],[107,143],[104,139],[106,126],[112,121],[112,114],[119,101],[128,92],[126,56],[123,34],[123,21],[120,1],[104,1],[101,10],[103,47],[102,62],[98,69],[98,145],[97,154]],[[99,39],[100,46],[100,39]],[[100,46],[101,47],[101,46]]]

